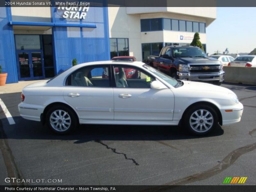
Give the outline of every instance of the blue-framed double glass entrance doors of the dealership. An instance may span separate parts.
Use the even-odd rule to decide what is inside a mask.
[[[17,51],[19,80],[44,78],[44,62],[41,50]]]

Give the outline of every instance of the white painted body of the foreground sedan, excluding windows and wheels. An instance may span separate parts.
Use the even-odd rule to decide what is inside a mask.
[[[120,87],[79,87],[65,85],[66,77],[84,66],[99,64],[121,64],[136,66],[156,77],[161,83],[157,89]],[[26,86],[22,93],[25,100],[19,104],[20,116],[40,121],[44,109],[53,103],[63,103],[72,108],[80,124],[136,124],[136,125],[178,125],[184,111],[197,102],[205,102],[218,108],[220,124],[239,122],[243,105],[235,102],[231,90],[206,83],[183,81],[178,88],[143,67],[142,62],[99,61],[76,65],[50,82],[42,81]],[[154,81],[155,82],[155,81]],[[72,97],[70,94],[79,94]],[[120,95],[131,95],[120,98]],[[125,99],[124,99],[125,98]],[[232,110],[227,112],[225,110]]]

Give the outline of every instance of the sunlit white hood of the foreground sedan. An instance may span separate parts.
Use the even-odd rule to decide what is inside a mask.
[[[221,92],[221,93],[233,93],[231,90],[221,87],[218,85],[213,85],[209,83],[201,83],[195,81],[182,81],[184,83],[183,86],[177,89],[191,90],[191,91],[206,91],[206,92]]]

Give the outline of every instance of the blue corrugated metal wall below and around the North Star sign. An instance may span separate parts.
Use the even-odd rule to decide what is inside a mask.
[[[104,6],[106,0],[97,0]],[[73,23],[96,25],[96,28],[54,27],[53,49],[55,72],[58,74],[72,67],[72,60],[77,63],[110,60],[108,7],[90,7],[85,20],[64,19],[60,10],[52,7],[53,23]]]

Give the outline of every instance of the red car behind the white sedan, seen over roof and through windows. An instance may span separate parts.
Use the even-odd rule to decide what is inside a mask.
[[[136,58],[133,56],[119,56],[119,57],[113,57],[111,60],[114,61],[136,61]],[[119,69],[116,68],[115,72],[118,73]],[[124,68],[124,73],[127,79],[137,79],[138,78],[138,71],[130,68]],[[102,78],[108,78],[105,73],[103,73]]]

